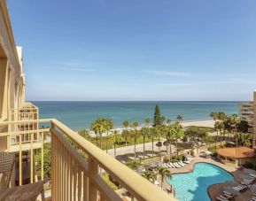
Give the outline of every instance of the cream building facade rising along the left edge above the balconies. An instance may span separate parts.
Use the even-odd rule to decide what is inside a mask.
[[[5,0],[0,0],[0,122],[8,120],[8,111],[25,101],[25,76],[22,48],[16,47]],[[0,126],[0,132],[6,126]],[[7,138],[0,137],[0,151],[7,149]]]

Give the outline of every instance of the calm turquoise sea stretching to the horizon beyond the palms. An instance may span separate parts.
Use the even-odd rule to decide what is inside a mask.
[[[33,102],[40,109],[41,118],[56,118],[68,127],[78,130],[89,128],[90,123],[97,117],[109,117],[114,126],[119,127],[123,120],[144,123],[144,119],[153,118],[155,104],[168,119],[175,120],[182,115],[184,121],[210,120],[209,113],[223,111],[237,113],[238,102]]]

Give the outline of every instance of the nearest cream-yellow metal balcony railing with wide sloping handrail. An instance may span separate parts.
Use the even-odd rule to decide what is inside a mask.
[[[0,126],[19,126],[27,122],[30,121],[1,122]],[[37,128],[29,132],[31,138],[27,150],[30,151],[30,182],[36,182],[38,177],[43,179],[43,143],[46,136],[50,136],[52,200],[122,200],[102,179],[100,175],[102,171],[110,174],[137,200],[175,200],[174,197],[169,196],[58,120],[32,121],[37,124],[46,122],[50,123],[50,128]],[[11,135],[20,137],[24,132],[0,133],[0,137]],[[35,161],[33,161],[35,155],[33,134],[35,133],[42,138],[42,145],[39,148],[42,151],[40,172],[35,171]],[[24,145],[19,141],[19,185],[22,184],[22,151],[24,150],[22,147]]]

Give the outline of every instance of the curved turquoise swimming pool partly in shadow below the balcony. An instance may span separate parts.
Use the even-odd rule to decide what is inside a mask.
[[[175,188],[175,197],[180,201],[210,201],[207,189],[214,183],[234,181],[234,177],[219,166],[198,163],[187,174],[173,174],[167,182]]]

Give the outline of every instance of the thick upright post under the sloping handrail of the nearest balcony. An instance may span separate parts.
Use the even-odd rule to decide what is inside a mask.
[[[97,162],[89,156],[88,159],[88,176],[89,176],[89,200],[90,201],[96,201],[97,200],[97,188],[94,185],[94,182],[92,181],[93,176],[98,174],[98,165]]]

